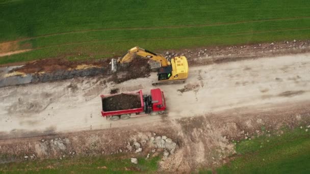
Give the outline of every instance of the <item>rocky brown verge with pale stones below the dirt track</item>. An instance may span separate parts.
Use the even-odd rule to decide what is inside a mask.
[[[119,154],[132,158],[163,154],[160,170],[189,172],[213,168],[229,161],[234,142],[269,132],[279,136],[282,127],[310,129],[310,103],[232,111],[163,121],[147,126],[0,140],[1,163],[79,156]]]

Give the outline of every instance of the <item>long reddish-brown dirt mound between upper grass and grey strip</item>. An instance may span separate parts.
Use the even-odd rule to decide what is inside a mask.
[[[109,60],[73,62],[67,59],[44,59],[29,62],[26,65],[11,70],[24,73],[53,72],[58,70],[87,69],[92,67],[108,67]]]

